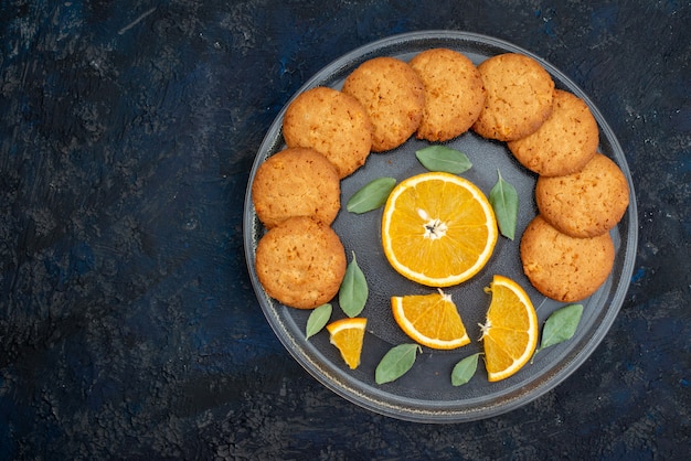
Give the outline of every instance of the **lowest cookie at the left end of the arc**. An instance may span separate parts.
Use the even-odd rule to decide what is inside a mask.
[[[338,293],[346,250],[331,227],[291,217],[259,239],[255,268],[268,296],[293,308],[313,309]]]

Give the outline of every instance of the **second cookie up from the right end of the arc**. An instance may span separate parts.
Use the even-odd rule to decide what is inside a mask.
[[[572,237],[593,237],[617,225],[629,203],[624,173],[596,153],[582,171],[564,176],[540,176],[535,202],[542,217]]]

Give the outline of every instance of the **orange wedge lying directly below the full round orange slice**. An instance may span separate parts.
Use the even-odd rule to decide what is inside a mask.
[[[391,298],[393,317],[411,339],[432,349],[456,349],[470,342],[450,294]]]

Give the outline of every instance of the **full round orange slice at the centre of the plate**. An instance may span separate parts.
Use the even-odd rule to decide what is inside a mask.
[[[429,172],[402,181],[386,201],[382,244],[403,277],[429,287],[468,280],[497,243],[492,207],[470,181]]]

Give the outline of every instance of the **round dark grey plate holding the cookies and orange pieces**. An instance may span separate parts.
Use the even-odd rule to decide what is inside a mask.
[[[380,240],[381,210],[353,215],[344,210],[344,205],[355,191],[373,179],[393,176],[401,181],[424,172],[414,152],[429,143],[413,138],[393,151],[372,153],[366,164],[341,184],[342,210],[333,228],[343,242],[349,261],[352,251],[357,254],[370,287],[370,298],[362,312],[362,317],[368,318],[368,329],[362,363],[357,369],[351,371],[346,366],[338,350],[329,343],[326,330],[306,340],[305,325],[310,312],[287,308],[269,298],[254,270],[255,249],[264,228],[252,205],[251,186],[258,165],[285,147],[280,130],[285,108],[268,130],[252,169],[245,197],[244,242],[252,283],[268,322],[295,360],[320,383],[342,397],[383,415],[413,421],[456,422],[487,418],[518,408],[564,380],[591,355],[609,330],[626,296],[635,262],[638,224],[634,186],[626,158],[600,112],[563,73],[510,43],[472,33],[448,31],[396,35],[340,57],[309,79],[298,94],[319,85],[340,88],[346,76],[371,57],[395,56],[407,61],[414,54],[432,47],[459,51],[476,64],[507,52],[534,57],[550,72],[559,88],[574,93],[588,104],[599,124],[600,152],[613,159],[627,176],[631,191],[630,205],[619,225],[612,230],[617,249],[614,270],[605,285],[582,302],[584,313],[574,337],[541,351],[533,363],[502,382],[489,383],[480,361],[476,375],[468,384],[454,387],[450,383],[454,365],[481,351],[481,343],[477,341],[480,336],[478,323],[485,321],[490,303],[490,297],[483,291],[483,287],[489,285],[495,274],[509,277],[525,288],[535,305],[540,325],[551,312],[564,305],[535,291],[521,269],[519,239],[528,223],[535,216],[535,174],[517,163],[503,143],[482,139],[472,132],[447,144],[469,157],[472,168],[463,176],[476,183],[486,194],[489,194],[497,181],[497,170],[515,186],[520,197],[518,237],[511,242],[500,236],[492,258],[482,271],[471,280],[445,290],[453,296],[458,307],[472,340],[471,344],[448,352],[423,347],[423,353],[417,356],[413,368],[393,383],[376,385],[374,369],[386,351],[394,345],[410,343],[411,340],[395,324],[390,298],[428,293],[432,289],[402,278],[386,262]],[[333,301],[333,307],[332,320],[344,317],[338,299]]]

